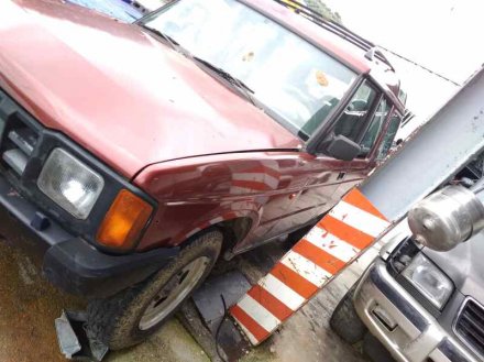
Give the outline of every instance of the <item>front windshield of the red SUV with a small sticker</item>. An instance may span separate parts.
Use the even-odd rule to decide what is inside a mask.
[[[356,75],[235,0],[178,0],[143,20],[194,56],[240,79],[267,113],[307,140]]]

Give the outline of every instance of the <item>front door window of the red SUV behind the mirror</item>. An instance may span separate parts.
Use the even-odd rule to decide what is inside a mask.
[[[365,81],[360,86],[337,121],[334,134],[341,134],[351,141],[359,142],[360,135],[367,124],[367,119],[377,95],[377,91],[369,83]]]

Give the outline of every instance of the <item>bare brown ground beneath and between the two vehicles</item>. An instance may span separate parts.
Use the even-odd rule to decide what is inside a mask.
[[[4,223],[4,216],[0,215],[0,223]],[[82,308],[85,300],[53,288],[38,272],[41,261],[32,253],[14,248],[13,244],[23,235],[16,234],[11,228],[9,231],[15,238],[0,238],[0,361],[65,361],[57,347],[54,319],[62,309]],[[284,245],[267,245],[261,251],[237,257],[233,264],[251,279],[256,279],[271,267],[271,260],[284,253],[284,248],[287,249]],[[332,309],[371,259],[366,255],[353,264],[279,332],[242,361],[365,361],[355,349],[342,342],[328,323]],[[145,343],[125,351],[110,352],[106,361],[201,362],[209,361],[209,358],[174,318]]]

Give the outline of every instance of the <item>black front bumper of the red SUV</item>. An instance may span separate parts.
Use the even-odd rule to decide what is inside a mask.
[[[0,235],[43,256],[43,272],[56,287],[75,295],[114,295],[165,266],[178,249],[110,255],[66,231],[20,196],[0,174]]]

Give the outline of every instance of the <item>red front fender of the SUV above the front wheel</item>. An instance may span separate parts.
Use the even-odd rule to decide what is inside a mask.
[[[176,245],[211,223],[250,217],[242,243],[262,240],[306,185],[298,152],[234,153],[148,166],[134,184],[158,200],[139,249]]]

